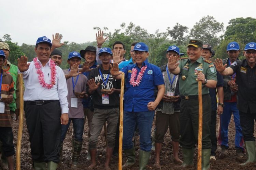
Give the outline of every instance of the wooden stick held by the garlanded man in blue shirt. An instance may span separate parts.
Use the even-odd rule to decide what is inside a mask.
[[[119,125],[119,151],[118,151],[118,169],[122,170],[122,149],[123,149],[123,98],[124,98],[125,73],[122,72],[121,92],[120,92],[120,125]]]

